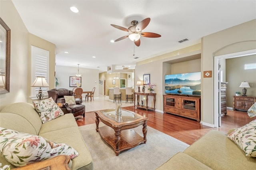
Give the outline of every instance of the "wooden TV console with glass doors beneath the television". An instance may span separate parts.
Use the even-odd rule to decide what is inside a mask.
[[[179,95],[164,96],[164,113],[171,113],[182,117],[201,120],[201,98]]]

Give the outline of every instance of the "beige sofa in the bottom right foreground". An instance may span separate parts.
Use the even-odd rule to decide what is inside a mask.
[[[157,170],[252,170],[256,158],[245,156],[226,134],[211,130]]]

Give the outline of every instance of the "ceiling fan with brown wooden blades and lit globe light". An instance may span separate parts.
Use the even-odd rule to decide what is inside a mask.
[[[148,38],[161,37],[161,35],[156,34],[156,33],[142,32],[142,30],[144,30],[144,28],[146,28],[146,26],[148,26],[149,22],[150,22],[150,18],[146,18],[146,19],[142,20],[140,23],[138,23],[138,21],[134,20],[131,22],[132,26],[130,26],[129,28],[124,28],[121,26],[110,24],[114,28],[117,28],[122,31],[127,31],[129,33],[128,36],[123,36],[121,38],[118,38],[114,42],[118,42],[120,40],[129,38],[130,40],[132,40],[135,43],[136,46],[140,46],[140,36],[148,37]]]

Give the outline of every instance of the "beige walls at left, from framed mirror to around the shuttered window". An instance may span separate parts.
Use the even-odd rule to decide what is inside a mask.
[[[10,0],[0,0],[0,17],[11,29],[10,93],[0,95],[0,110],[7,104],[29,102],[32,83],[31,45],[50,51],[50,87],[54,86],[55,45],[28,32]]]

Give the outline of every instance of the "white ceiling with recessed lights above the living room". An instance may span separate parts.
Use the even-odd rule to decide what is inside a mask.
[[[203,36],[256,19],[256,0],[12,1],[28,32],[56,45],[56,65],[79,63],[100,72],[112,65],[134,69],[138,61],[200,43]],[[71,12],[70,6],[79,12]],[[141,37],[135,55],[128,38],[110,42],[128,35],[110,24],[128,28],[132,20],[145,18],[151,21],[143,32],[162,37]],[[178,43],[185,38],[189,41]]]

